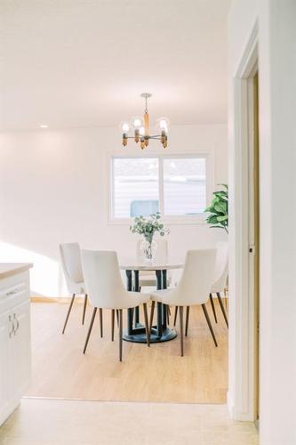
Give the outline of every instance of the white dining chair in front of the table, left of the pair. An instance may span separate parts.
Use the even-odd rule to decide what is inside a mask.
[[[150,295],[129,292],[124,288],[116,252],[82,250],[81,256],[85,287],[93,306],[92,320],[84,344],[84,353],[92,333],[92,325],[98,308],[111,310],[112,338],[114,338],[115,311],[118,310],[119,360],[122,361],[123,310],[143,304],[147,344],[149,346],[147,302],[150,300]]]

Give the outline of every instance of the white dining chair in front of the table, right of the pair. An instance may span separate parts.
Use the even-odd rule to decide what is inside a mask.
[[[183,347],[183,307],[201,304],[205,319],[212,334],[212,340],[217,346],[211,320],[205,303],[209,299],[215,265],[215,249],[189,250],[186,255],[184,270],[179,284],[173,289],[164,289],[151,292],[152,306],[150,320],[153,320],[155,302],[172,304],[179,307],[180,314],[180,351],[184,355]],[[187,315],[188,317],[188,315]],[[149,331],[151,326],[149,326]]]

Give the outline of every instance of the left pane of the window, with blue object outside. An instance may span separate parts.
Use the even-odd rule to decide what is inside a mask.
[[[113,216],[129,218],[158,212],[158,159],[113,159]]]

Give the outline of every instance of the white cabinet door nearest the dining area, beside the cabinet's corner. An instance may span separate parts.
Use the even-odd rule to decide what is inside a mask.
[[[14,333],[12,362],[15,397],[20,398],[28,388],[31,374],[30,303],[20,303],[12,309]]]

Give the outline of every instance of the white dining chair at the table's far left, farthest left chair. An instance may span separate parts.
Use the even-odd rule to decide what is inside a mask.
[[[84,274],[81,265],[80,247],[78,243],[60,244],[61,265],[66,279],[68,292],[72,294],[71,302],[68,306],[68,312],[62,333],[64,334],[68,318],[76,295],[84,295],[84,312],[82,324],[84,324],[85,311],[87,305],[87,295],[84,288]]]

